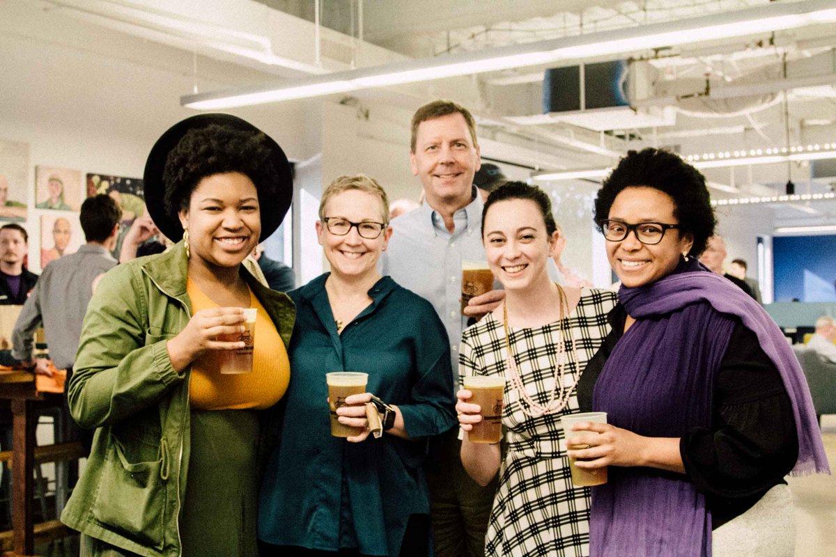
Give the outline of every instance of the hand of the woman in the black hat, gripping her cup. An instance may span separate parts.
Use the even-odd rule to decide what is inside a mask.
[[[171,367],[181,371],[207,350],[237,350],[242,341],[219,341],[220,335],[244,332],[244,310],[241,307],[214,307],[197,311],[186,327],[166,343]]]

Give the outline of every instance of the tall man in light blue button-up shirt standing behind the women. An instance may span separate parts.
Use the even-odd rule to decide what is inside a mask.
[[[418,109],[412,117],[410,169],[421,179],[425,201],[419,209],[392,220],[394,234],[381,258],[382,273],[431,301],[444,322],[456,386],[461,331],[468,316],[480,309],[468,307],[468,316],[461,315],[461,262],[486,261],[482,198],[473,185],[479,167],[476,124],[467,109],[442,100]],[[440,557],[484,554],[497,487],[494,479],[482,488],[464,471],[457,433],[453,428],[435,438],[426,462]]]

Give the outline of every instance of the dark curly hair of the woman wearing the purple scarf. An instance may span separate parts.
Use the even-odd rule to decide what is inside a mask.
[[[595,223],[600,225],[603,220],[609,219],[609,209],[615,197],[634,186],[646,186],[670,195],[674,202],[674,217],[680,223],[680,233],[693,237],[690,255],[699,256],[706,249],[706,242],[714,235],[716,218],[711,208],[706,177],[699,170],[678,154],[663,149],[648,147],[628,151],[598,190]]]

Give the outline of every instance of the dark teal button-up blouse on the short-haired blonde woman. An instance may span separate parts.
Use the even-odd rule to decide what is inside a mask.
[[[290,384],[281,443],[263,479],[258,538],[397,556],[410,514],[430,512],[426,440],[456,426],[450,344],[430,302],[389,276],[338,334],[326,278],[288,293],[297,306]],[[368,391],[400,408],[412,440],[331,437],[325,373],[335,371],[368,372]]]

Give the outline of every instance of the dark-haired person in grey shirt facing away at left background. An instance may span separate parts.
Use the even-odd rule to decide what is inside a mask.
[[[52,374],[43,358],[32,359],[33,335],[43,322],[50,359],[56,368],[67,370],[69,382],[75,352],[79,348],[81,323],[93,297],[94,283],[116,265],[110,251],[115,247],[121,218],[119,205],[107,195],[84,200],[80,220],[87,243],[74,254],[56,259],[43,269],[14,324],[12,356],[24,366],[34,366],[36,372]],[[79,431],[70,428],[66,435],[66,440],[75,440]]]

